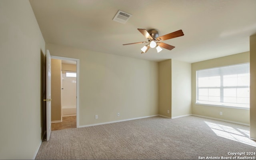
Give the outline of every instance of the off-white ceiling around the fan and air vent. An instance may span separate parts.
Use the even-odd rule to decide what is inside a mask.
[[[46,43],[152,61],[184,62],[247,52],[256,33],[256,0],[30,0]],[[132,17],[112,19],[122,10]],[[184,36],[165,40],[175,46],[141,54],[146,41],[137,28],[159,36],[182,29]]]

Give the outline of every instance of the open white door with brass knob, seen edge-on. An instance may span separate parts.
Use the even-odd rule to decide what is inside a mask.
[[[49,50],[46,51],[46,140],[51,135],[51,55]]]

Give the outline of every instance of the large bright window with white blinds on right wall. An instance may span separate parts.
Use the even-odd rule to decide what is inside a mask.
[[[196,104],[250,108],[250,64],[197,70]]]

